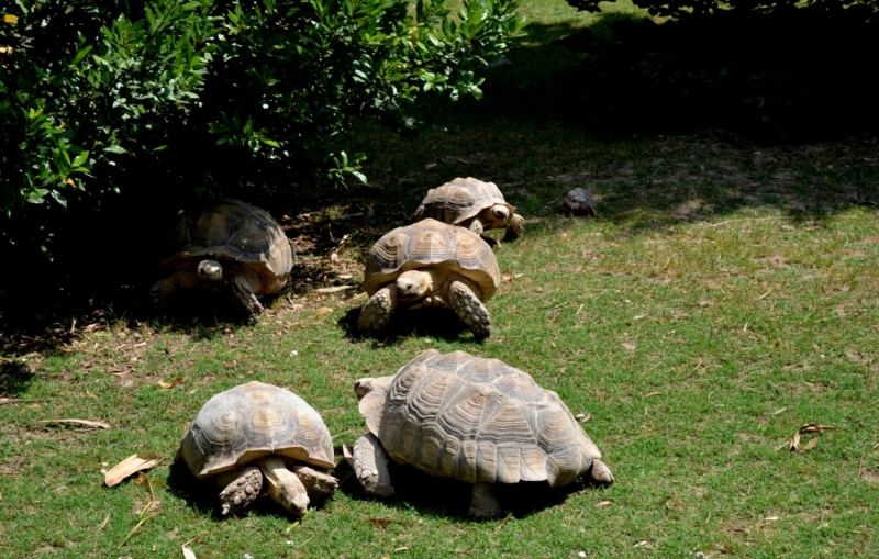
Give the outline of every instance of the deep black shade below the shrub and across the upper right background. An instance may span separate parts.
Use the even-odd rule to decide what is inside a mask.
[[[574,7],[597,9],[594,2],[570,4],[572,12]],[[475,79],[486,79],[483,99],[464,96],[452,101],[448,92],[429,93],[407,112],[420,124],[401,126],[399,119],[389,121],[382,112],[378,127],[371,127],[372,118],[365,116],[353,136],[340,127],[341,134],[321,137],[320,153],[337,154],[353,146],[352,154],[361,150],[368,158],[382,159],[376,156],[389,147],[377,138],[388,128],[401,131],[396,146],[416,150],[475,121],[486,127],[499,121],[564,123],[610,143],[709,134],[756,146],[869,138],[876,130],[875,2],[637,5],[655,18],[604,13],[583,30],[532,25],[528,35],[513,44],[512,68],[477,70]],[[245,63],[246,58],[236,60],[238,66],[229,69],[225,79],[233,82],[234,72],[251,71]],[[464,63],[472,60],[455,60]],[[216,113],[226,97],[207,96],[204,102]],[[337,238],[346,227],[357,233],[361,225],[380,228],[381,223],[401,221],[424,189],[436,186],[401,178],[393,188],[375,190],[359,186],[351,175],[347,186],[340,186],[326,176],[327,159],[315,163],[304,150],[282,163],[264,157],[265,152],[245,157],[242,150],[215,146],[208,121],[185,124],[174,128],[171,138],[183,157],[170,160],[152,152],[114,156],[124,163],[124,172],[112,174],[119,194],[71,198],[66,210],[51,213],[25,204],[16,208],[13,220],[0,217],[0,322],[38,325],[49,315],[75,315],[107,304],[146,313],[143,292],[158,273],[155,261],[168,256],[165,234],[176,212],[200,197],[241,197],[270,209],[278,219],[341,202],[369,204],[368,220],[375,223],[336,224]],[[320,136],[330,128],[318,126],[304,134]],[[376,130],[381,132],[368,132]],[[288,143],[290,149],[293,144]],[[246,139],[242,147],[247,150]],[[271,146],[257,142],[257,147]],[[369,163],[364,170],[368,180],[381,176]],[[9,174],[0,180],[8,181]],[[539,208],[548,201],[532,204]],[[30,228],[23,230],[24,224]],[[316,235],[329,241],[321,228],[325,224],[313,225]],[[51,254],[38,249],[45,245],[46,228],[54,234]],[[15,245],[7,242],[13,236]]]

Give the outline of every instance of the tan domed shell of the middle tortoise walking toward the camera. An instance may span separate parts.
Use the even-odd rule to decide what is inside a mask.
[[[398,227],[372,245],[366,259],[366,292],[371,297],[401,273],[429,267],[475,281],[482,301],[494,295],[501,281],[494,254],[479,235],[429,219]]]

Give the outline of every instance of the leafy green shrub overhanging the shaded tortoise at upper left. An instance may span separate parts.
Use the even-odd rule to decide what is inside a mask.
[[[18,0],[0,22],[0,232],[49,250],[65,209],[120,190],[357,174],[363,155],[329,142],[356,115],[411,124],[431,91],[478,97],[518,2],[465,0],[455,19],[444,0]]]

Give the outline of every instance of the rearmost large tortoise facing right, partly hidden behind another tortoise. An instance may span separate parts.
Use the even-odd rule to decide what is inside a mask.
[[[429,190],[413,221],[427,217],[467,227],[477,235],[485,230],[505,228],[508,239],[519,237],[525,227],[525,220],[507,203],[497,185],[472,177]]]

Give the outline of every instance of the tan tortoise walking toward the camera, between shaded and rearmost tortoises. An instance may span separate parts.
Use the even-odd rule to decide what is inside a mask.
[[[477,338],[483,338],[491,333],[491,316],[482,302],[494,295],[500,280],[494,254],[475,233],[431,219],[398,227],[369,249],[369,301],[357,328],[379,332],[398,305],[450,306]]]

